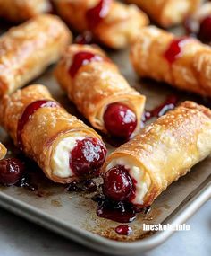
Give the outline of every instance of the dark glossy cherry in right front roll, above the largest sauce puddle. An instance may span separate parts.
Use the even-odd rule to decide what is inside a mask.
[[[114,201],[131,201],[135,197],[134,182],[124,166],[116,165],[105,173],[103,192]]]

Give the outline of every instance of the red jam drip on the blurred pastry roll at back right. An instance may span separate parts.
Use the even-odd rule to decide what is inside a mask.
[[[181,57],[181,48],[186,40],[186,38],[175,39],[170,43],[168,49],[165,50],[164,57],[169,64],[173,64],[178,57]]]

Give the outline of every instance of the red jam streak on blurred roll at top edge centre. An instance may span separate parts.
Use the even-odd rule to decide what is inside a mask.
[[[99,0],[99,3],[86,13],[89,30],[93,30],[105,18],[112,0]]]

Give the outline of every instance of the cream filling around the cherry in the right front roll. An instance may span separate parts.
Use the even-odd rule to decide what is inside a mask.
[[[123,165],[126,169],[130,170],[129,174],[134,182],[135,186],[135,198],[132,199],[133,204],[143,204],[143,199],[148,192],[150,184],[144,181],[144,172],[138,166],[134,166],[133,163],[130,163],[130,160],[126,157],[114,159],[106,167],[106,171],[114,167],[115,165]]]

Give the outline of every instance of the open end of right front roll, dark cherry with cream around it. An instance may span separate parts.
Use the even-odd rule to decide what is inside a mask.
[[[147,172],[132,163],[129,156],[114,158],[105,169],[104,193],[109,199],[147,206],[146,195],[151,186]]]

